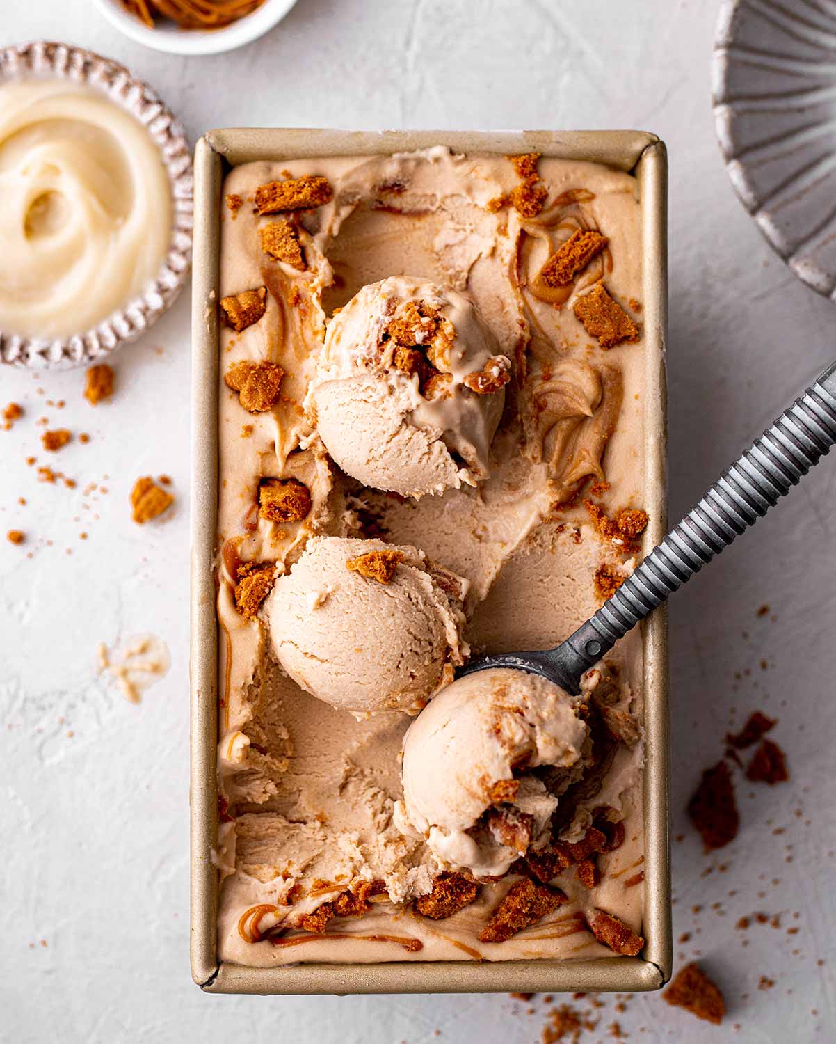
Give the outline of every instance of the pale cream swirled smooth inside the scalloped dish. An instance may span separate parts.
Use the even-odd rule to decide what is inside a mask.
[[[66,80],[0,88],[0,329],[82,333],[140,294],[171,232],[147,129]]]

